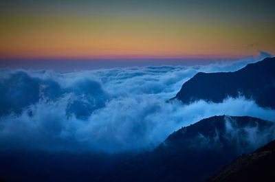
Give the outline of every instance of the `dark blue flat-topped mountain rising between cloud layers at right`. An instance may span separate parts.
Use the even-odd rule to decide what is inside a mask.
[[[228,73],[197,73],[185,82],[175,98],[189,104],[197,100],[222,102],[239,95],[275,109],[275,57]],[[174,98],[173,98],[174,99]]]

